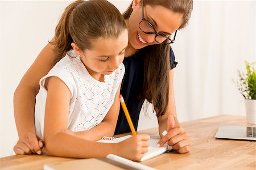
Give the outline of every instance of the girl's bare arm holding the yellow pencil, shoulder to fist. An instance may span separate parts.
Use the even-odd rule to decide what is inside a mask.
[[[67,124],[71,92],[65,83],[55,76],[48,78],[46,87],[48,91],[44,142],[47,154],[72,158],[98,158],[112,153],[138,160],[147,152],[149,136],[145,134],[115,144],[93,142],[70,134],[67,131]]]

